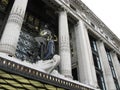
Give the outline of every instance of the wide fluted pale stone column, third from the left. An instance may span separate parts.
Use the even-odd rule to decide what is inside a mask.
[[[80,82],[97,87],[95,66],[87,29],[82,20],[75,26]]]

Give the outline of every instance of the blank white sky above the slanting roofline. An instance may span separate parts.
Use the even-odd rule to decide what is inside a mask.
[[[81,0],[120,39],[120,0]]]

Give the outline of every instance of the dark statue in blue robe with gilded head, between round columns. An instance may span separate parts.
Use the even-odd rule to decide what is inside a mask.
[[[35,37],[35,40],[39,44],[39,53],[41,59],[51,59],[55,54],[54,41],[56,40],[54,40],[53,37],[55,37],[55,35],[52,36],[51,31],[47,28],[40,32],[40,37]]]

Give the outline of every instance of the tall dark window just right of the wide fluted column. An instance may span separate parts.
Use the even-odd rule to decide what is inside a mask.
[[[89,36],[89,38],[90,38],[90,45],[92,49],[93,61],[94,61],[95,70],[96,70],[97,82],[100,89],[106,90],[100,58],[97,50],[96,40],[91,36]]]

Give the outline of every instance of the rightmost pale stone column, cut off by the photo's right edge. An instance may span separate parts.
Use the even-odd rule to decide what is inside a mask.
[[[118,57],[117,57],[117,54],[115,52],[111,52],[111,55],[112,55],[112,62],[113,62],[115,73],[116,73],[116,76],[118,79],[118,83],[120,85],[120,63],[118,61]]]

